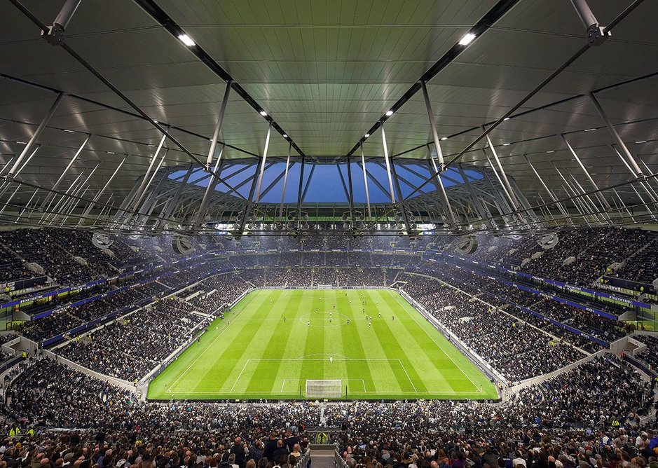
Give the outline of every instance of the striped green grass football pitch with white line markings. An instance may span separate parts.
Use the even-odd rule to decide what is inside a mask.
[[[497,396],[396,291],[263,289],[215,320],[151,382],[148,397],[300,399],[307,379],[341,380],[343,399],[345,387],[348,399]]]

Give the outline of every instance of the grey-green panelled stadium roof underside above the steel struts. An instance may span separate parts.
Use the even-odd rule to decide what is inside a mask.
[[[381,123],[392,161],[436,158],[423,81],[446,163],[491,172],[495,158],[483,151],[486,138],[472,142],[484,125],[500,121],[491,143],[529,205],[550,201],[551,193],[528,160],[556,198],[570,198],[579,186],[592,191],[561,135],[599,188],[620,184],[617,193],[626,205],[645,205],[656,195],[655,179],[629,184],[634,167],[588,95],[594,93],[640,170],[653,173],[658,5],[652,1],[589,0],[612,36],[588,47],[585,27],[567,1],[83,0],[66,26],[64,44],[51,46],[40,29],[53,24],[64,4],[77,3],[8,0],[3,8],[0,156],[3,174],[18,172],[18,183],[0,189],[0,202],[9,203],[5,216],[25,205],[29,212],[30,206],[43,209],[43,200],[57,198],[48,189],[63,193],[71,184],[69,195],[78,197],[75,213],[110,178],[92,209],[109,205],[116,214],[149,167],[165,171],[190,162],[202,167],[227,81],[231,92],[212,163],[221,151],[223,160],[258,167],[270,124],[267,155],[279,163],[290,150],[293,162],[303,157],[307,165],[331,164],[338,174],[335,165],[345,165],[346,157],[360,160],[361,144],[365,158],[381,162]],[[467,34],[474,34],[472,41],[460,44]],[[26,143],[60,92],[64,96],[28,160],[36,146],[26,152]],[[163,130],[169,137],[156,164],[164,154],[163,162],[150,166]],[[22,162],[28,160],[22,170],[16,164],[21,153]],[[425,172],[411,185],[431,179],[431,171]],[[317,200],[324,190],[327,202],[334,201],[343,190],[338,179],[316,179]],[[493,182],[505,191],[504,177]],[[388,184],[385,178],[381,183]],[[239,198],[248,198],[248,192]],[[403,192],[407,198],[413,191]],[[621,205],[615,193],[604,193],[613,208]],[[596,194],[589,197],[592,210],[605,208]],[[73,203],[62,199],[60,205]],[[569,212],[578,208],[565,205]]]

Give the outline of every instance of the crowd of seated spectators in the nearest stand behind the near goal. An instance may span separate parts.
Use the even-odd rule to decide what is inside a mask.
[[[268,463],[287,468],[315,434],[308,431],[324,423],[318,432],[339,444],[350,468],[378,463],[641,468],[656,460],[651,447],[656,433],[640,422],[652,401],[652,385],[612,355],[521,390],[502,404],[143,402],[42,359],[13,381],[3,410],[37,433],[22,437],[22,447],[5,442],[2,452],[4,461],[27,460],[26,466],[34,462],[41,468],[50,463],[229,468],[232,462],[240,468]],[[86,430],[41,432],[50,427]]]

